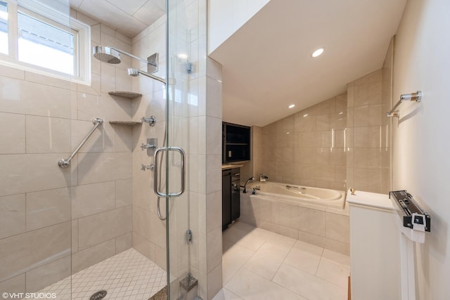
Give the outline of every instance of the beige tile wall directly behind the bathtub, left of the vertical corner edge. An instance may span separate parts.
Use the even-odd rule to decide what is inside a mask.
[[[264,126],[256,169],[270,181],[345,190],[346,126],[346,93]]]

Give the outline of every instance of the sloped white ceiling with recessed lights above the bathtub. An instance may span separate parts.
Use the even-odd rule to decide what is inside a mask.
[[[383,66],[405,4],[269,1],[210,55],[223,66],[224,121],[265,126],[345,92]],[[319,46],[326,51],[311,58]]]

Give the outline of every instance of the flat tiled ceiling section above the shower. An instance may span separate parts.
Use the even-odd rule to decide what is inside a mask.
[[[165,14],[165,0],[70,0],[70,6],[135,37]]]

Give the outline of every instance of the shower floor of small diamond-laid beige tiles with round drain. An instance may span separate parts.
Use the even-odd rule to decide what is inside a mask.
[[[37,293],[55,293],[58,300],[86,300],[105,289],[108,300],[144,300],[165,287],[166,280],[165,270],[131,248]]]

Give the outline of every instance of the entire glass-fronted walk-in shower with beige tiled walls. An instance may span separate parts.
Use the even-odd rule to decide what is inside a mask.
[[[83,46],[70,30],[74,19],[89,25],[91,46],[137,58],[159,53],[151,74],[132,56],[117,65],[88,59],[90,84],[76,72],[49,76],[26,63],[0,65],[4,298],[40,291],[56,299],[148,299],[167,285],[169,299],[184,299],[180,281],[191,274],[198,294],[212,298],[221,285],[219,134],[214,139],[221,111],[206,104],[207,86],[219,91],[219,78],[207,77],[206,1],[168,0],[166,15],[136,37],[70,8],[69,0],[0,0],[0,8],[0,37],[8,41],[1,56],[20,60],[15,38],[65,44],[45,32],[37,40],[37,27],[22,26],[24,18],[67,28],[67,43],[75,44],[65,52],[73,57]],[[33,56],[56,59],[45,50]],[[93,119],[103,122],[93,129]],[[158,144],[150,147],[148,138]],[[158,150],[147,155],[145,148]],[[64,160],[70,163],[58,167]],[[127,281],[111,270],[144,275]]]

